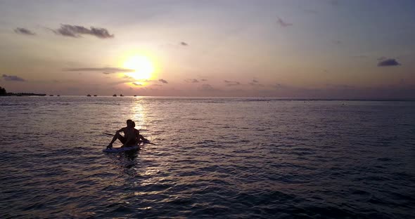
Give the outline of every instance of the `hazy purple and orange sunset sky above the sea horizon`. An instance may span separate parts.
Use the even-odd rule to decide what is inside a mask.
[[[415,98],[413,0],[4,1],[0,86]]]

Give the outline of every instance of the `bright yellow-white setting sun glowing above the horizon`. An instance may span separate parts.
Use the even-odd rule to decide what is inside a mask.
[[[122,65],[126,69],[132,69],[134,72],[129,72],[127,75],[136,80],[151,79],[154,72],[153,62],[146,56],[134,55],[127,58]]]

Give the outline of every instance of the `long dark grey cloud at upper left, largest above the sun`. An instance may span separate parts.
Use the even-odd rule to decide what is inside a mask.
[[[96,36],[101,39],[113,38],[114,34],[110,34],[107,29],[100,27],[87,27],[77,26],[77,25],[60,25],[59,29],[51,29],[55,34],[62,36],[70,36],[79,38],[82,34],[89,34]]]

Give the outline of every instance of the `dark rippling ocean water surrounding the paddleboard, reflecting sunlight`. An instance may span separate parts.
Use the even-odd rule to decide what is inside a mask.
[[[0,218],[415,217],[410,101],[1,97],[0,150]]]

